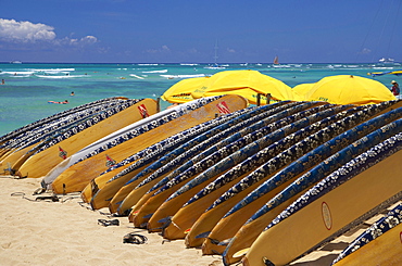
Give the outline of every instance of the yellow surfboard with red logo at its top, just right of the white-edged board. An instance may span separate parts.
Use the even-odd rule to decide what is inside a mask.
[[[227,105],[233,112],[247,106],[247,100],[238,96],[224,96],[202,107],[189,112],[172,123],[166,123],[115,145],[105,152],[98,153],[65,169],[52,183],[55,193],[81,191],[93,178],[108,169],[106,161],[121,162],[127,156],[150,147],[162,139],[183,131],[193,125],[212,119],[219,114],[221,105]]]

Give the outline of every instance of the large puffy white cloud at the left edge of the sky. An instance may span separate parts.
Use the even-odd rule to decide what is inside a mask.
[[[38,40],[53,40],[54,28],[41,23],[16,22],[0,18],[0,39],[16,42],[35,42]]]

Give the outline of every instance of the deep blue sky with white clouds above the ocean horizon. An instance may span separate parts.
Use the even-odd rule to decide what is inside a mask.
[[[402,62],[402,0],[0,0],[0,62]]]

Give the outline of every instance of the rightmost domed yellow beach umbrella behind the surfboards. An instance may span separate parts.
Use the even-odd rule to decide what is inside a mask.
[[[329,76],[316,83],[305,94],[309,101],[335,104],[375,104],[395,100],[381,83],[352,75]]]

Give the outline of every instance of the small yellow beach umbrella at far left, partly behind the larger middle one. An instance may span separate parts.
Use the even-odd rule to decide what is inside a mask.
[[[161,98],[171,103],[185,103],[192,101],[194,98],[192,98],[191,92],[197,88],[202,87],[208,78],[209,77],[193,77],[183,79],[168,88]]]

